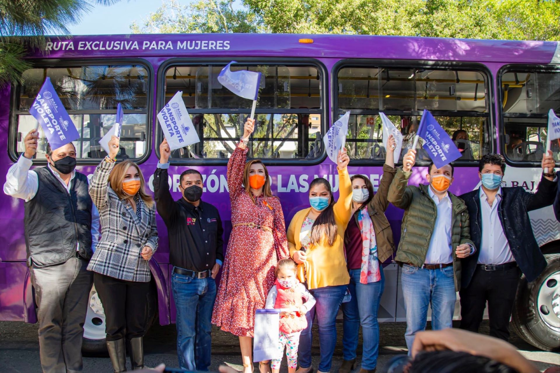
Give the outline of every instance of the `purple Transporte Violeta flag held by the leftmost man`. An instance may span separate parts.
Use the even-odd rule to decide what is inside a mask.
[[[29,114],[34,116],[43,128],[52,149],[58,149],[80,138],[49,77],[37,93]]]

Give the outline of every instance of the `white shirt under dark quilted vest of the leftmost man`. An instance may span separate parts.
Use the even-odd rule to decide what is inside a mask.
[[[6,182],[4,183],[4,193],[8,196],[21,198],[25,202],[30,201],[39,190],[39,176],[36,172],[30,171],[33,161],[27,159],[21,154],[20,159],[8,169],[8,174],[6,175]],[[66,182],[60,178],[58,172],[54,171],[50,164],[48,164],[50,171],[53,172],[54,176],[60,181],[64,186],[66,191],[70,193],[70,188],[72,186],[72,180],[76,177],[76,171],[72,171],[72,176],[66,185]],[[99,211],[97,207],[91,204],[91,249],[95,251],[95,247],[99,241]],[[80,243],[76,248],[77,251],[80,250]]]

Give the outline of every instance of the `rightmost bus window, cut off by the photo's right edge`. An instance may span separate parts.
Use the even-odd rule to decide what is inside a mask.
[[[560,115],[560,71],[510,70],[502,75],[502,148],[508,159],[540,163],[550,109]],[[550,147],[556,160],[559,148],[559,141]]]

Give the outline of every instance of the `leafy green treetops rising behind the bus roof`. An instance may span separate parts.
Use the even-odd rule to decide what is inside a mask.
[[[558,0],[165,0],[133,32],[559,40]]]

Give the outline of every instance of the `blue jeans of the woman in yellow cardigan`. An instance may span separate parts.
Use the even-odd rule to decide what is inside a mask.
[[[315,307],[305,315],[307,328],[302,330],[300,336],[298,355],[302,368],[311,366],[311,327],[316,316],[317,323],[319,324],[319,349],[321,352],[319,370],[321,372],[328,372],[330,370],[330,365],[333,362],[334,347],[337,344],[335,322],[347,287],[347,285],[325,286],[309,291],[315,297],[316,303]]]

